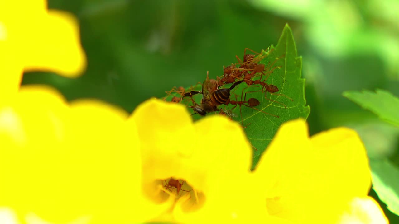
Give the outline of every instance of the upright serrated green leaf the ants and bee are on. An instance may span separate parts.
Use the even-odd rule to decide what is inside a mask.
[[[247,54],[249,53],[251,52],[247,50]],[[305,106],[304,79],[301,79],[302,58],[298,57],[292,31],[288,24],[284,27],[277,46],[272,45],[268,51],[262,51],[258,57],[262,58],[258,64],[264,64],[267,67],[269,63],[274,63],[273,66],[269,65],[269,68],[279,67],[267,78],[267,83],[277,86],[279,91],[273,95],[267,93],[265,96],[259,84],[247,86],[246,83],[241,83],[238,88],[231,91],[230,99],[256,98],[260,104],[255,108],[262,112],[246,106],[241,106],[241,111],[239,106],[233,109],[234,106],[231,104],[219,106],[225,110],[233,109],[231,112],[237,117],[232,118],[237,122],[243,122],[243,126],[246,127],[244,128],[245,133],[254,147],[253,168],[282,123],[296,118],[306,119],[310,112],[309,106]],[[212,79],[212,77],[210,78]],[[254,80],[256,79],[260,79],[260,77]],[[262,77],[262,80],[265,79],[266,77]],[[195,87],[192,90],[201,90],[200,85]],[[221,88],[228,87],[229,85],[226,85]],[[172,95],[179,96],[178,94]],[[199,104],[201,97],[201,94],[198,94],[194,100]],[[246,98],[244,99],[244,97]],[[170,101],[171,98],[172,96],[169,96],[167,100]],[[192,110],[190,109],[190,111]],[[199,115],[194,115],[194,119],[199,118]],[[234,140],[234,136],[231,140]]]

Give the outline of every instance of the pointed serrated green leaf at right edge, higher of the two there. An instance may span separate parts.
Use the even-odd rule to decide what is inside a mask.
[[[343,95],[377,114],[382,120],[399,126],[399,99],[390,92],[377,89],[375,92],[369,90],[346,91]]]

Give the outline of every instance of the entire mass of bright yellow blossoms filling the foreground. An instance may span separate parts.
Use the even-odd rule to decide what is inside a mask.
[[[0,2],[0,223],[387,223],[367,198],[361,141],[284,124],[254,172],[241,127],[148,100],[132,116],[24,86],[22,71],[76,76],[77,23],[45,1]],[[173,179],[172,179],[173,178]]]

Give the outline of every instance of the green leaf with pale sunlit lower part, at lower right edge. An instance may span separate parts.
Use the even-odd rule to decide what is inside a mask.
[[[399,215],[399,169],[387,160],[370,160],[373,189],[387,208]]]

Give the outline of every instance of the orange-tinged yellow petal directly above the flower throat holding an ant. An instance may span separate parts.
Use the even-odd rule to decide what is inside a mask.
[[[183,169],[180,158],[191,155],[198,144],[192,140],[194,127],[186,110],[183,105],[155,98],[134,110],[132,119],[142,143],[144,181],[180,176],[178,171]]]

